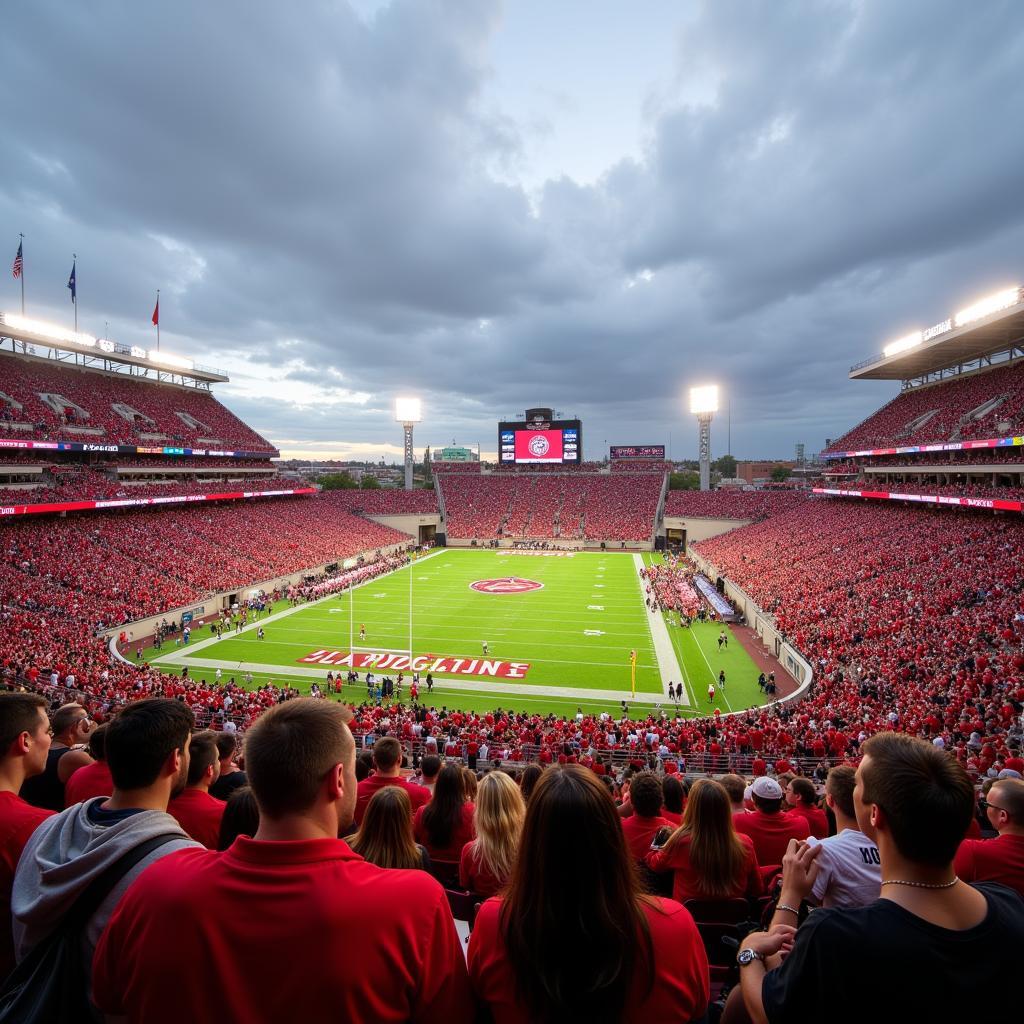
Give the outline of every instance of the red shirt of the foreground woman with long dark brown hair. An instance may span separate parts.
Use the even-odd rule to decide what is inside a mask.
[[[501,905],[501,898],[495,897],[480,907],[469,939],[469,977],[495,1024],[524,1024],[530,1017],[516,995],[515,976],[499,927]],[[638,943],[624,1024],[701,1017],[709,999],[708,955],[693,919],[671,899],[653,897],[644,910],[650,927],[654,984],[648,992],[648,963],[643,944]]]

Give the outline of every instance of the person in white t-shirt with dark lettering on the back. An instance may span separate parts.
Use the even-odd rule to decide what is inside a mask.
[[[857,826],[853,790],[856,773],[852,765],[839,765],[828,772],[825,801],[836,815],[835,836],[808,840],[820,846],[817,877],[808,897],[817,906],[867,906],[879,898],[882,861],[878,847]]]

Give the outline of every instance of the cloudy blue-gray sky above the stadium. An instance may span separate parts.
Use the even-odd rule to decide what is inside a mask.
[[[33,0],[3,55],[28,311],[75,252],[150,345],[161,289],[286,455],[397,456],[412,393],[418,449],[552,406],[690,457],[708,381],[734,455],[816,451],[895,393],[851,364],[1024,278],[1019,0]]]

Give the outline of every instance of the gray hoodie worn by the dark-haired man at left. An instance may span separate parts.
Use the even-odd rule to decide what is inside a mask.
[[[155,836],[176,837],[135,864],[89,920],[85,945],[86,963],[91,963],[99,936],[128,886],[169,853],[203,849],[164,811],[139,811],[114,824],[95,824],[88,817],[88,808],[106,799],[94,797],[47,818],[22,851],[10,900],[18,962],[61,923],[77,897],[119,857]]]

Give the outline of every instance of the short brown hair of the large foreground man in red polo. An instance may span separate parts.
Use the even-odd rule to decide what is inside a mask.
[[[261,815],[280,818],[312,807],[327,773],[354,758],[351,717],[335,700],[296,697],[256,720],[246,734],[246,773]]]

